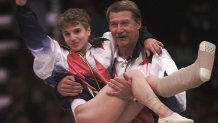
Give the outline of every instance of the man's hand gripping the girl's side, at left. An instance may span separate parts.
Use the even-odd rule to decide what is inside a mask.
[[[57,90],[62,96],[77,96],[82,93],[83,88],[75,81],[74,76],[68,75],[58,83]]]

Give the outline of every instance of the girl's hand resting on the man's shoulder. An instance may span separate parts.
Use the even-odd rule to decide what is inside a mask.
[[[153,38],[148,38],[144,41],[144,48],[148,57],[151,53],[161,55],[163,47],[164,45],[160,41]]]

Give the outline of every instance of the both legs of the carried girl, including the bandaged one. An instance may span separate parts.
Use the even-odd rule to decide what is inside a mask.
[[[210,74],[213,67],[214,52],[215,45],[209,42],[203,42],[200,45],[198,59],[193,65],[184,68],[184,70],[179,70],[179,73],[176,72],[174,73],[174,75],[170,75],[171,77],[168,76],[164,79],[158,79],[159,81],[153,81],[151,83],[149,82],[149,84],[152,85],[152,88],[155,89],[155,91],[157,91],[158,94],[163,93],[163,95],[174,95],[181,91],[187,90],[191,87],[197,87],[210,79]],[[204,59],[207,59],[208,61],[204,61],[202,57],[204,57]],[[195,69],[198,70],[196,71]],[[155,113],[157,113],[162,118],[159,122],[193,122],[192,120],[186,119],[176,113],[173,113],[170,109],[168,109],[168,107],[166,107],[162,102],[160,102],[160,100],[154,94],[146,80],[142,79],[144,78],[142,73],[136,71],[129,71],[126,74],[132,77],[133,79],[132,93],[134,97],[140,103],[142,103],[143,105],[147,106]],[[180,79],[176,79],[179,77]],[[178,83],[175,83],[175,80],[178,81]],[[119,118],[121,118],[121,121],[122,118],[128,118],[122,115],[125,108],[128,109],[127,111],[130,112],[132,110],[131,108],[126,107],[128,101],[125,101],[115,96],[108,96],[106,92],[109,91],[113,90],[111,90],[111,88],[106,85],[95,98],[76,108],[76,119],[78,123],[115,123],[119,122],[117,121]]]

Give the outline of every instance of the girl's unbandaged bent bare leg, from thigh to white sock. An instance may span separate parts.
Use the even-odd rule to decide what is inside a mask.
[[[126,74],[135,78],[132,80],[131,87],[132,92],[134,92],[134,97],[136,97],[140,103],[153,110],[160,117],[166,118],[173,114],[173,112],[156,97],[141,72],[131,71]],[[106,85],[93,99],[76,107],[75,119],[77,123],[126,123],[132,121],[143,106],[132,103],[130,100],[109,96],[107,92],[111,91],[115,90]],[[190,120],[179,115],[173,119],[174,123],[179,123],[180,121]]]

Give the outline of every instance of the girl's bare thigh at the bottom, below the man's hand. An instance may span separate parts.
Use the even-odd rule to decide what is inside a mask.
[[[117,123],[128,101],[107,95],[109,91],[113,90],[106,85],[93,99],[76,107],[77,123]]]

